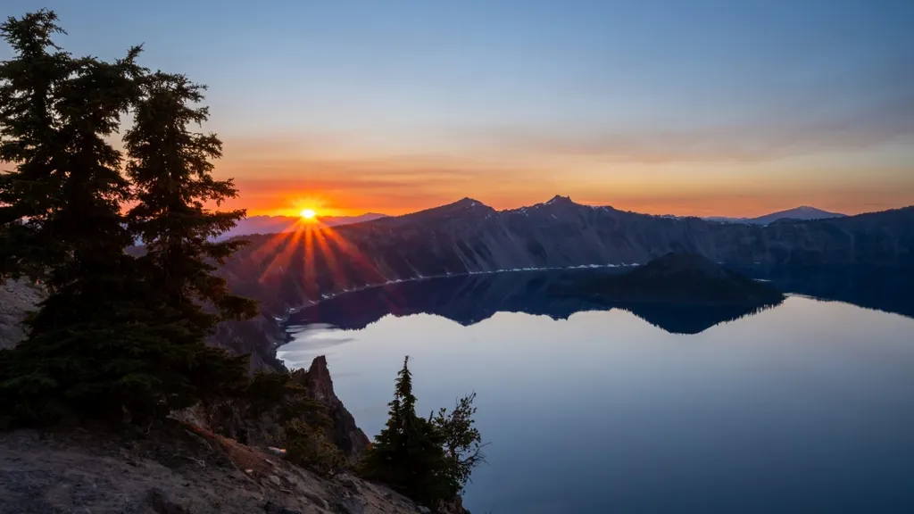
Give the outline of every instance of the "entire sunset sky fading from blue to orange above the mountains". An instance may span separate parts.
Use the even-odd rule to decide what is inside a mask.
[[[914,204],[914,2],[5,0],[209,85],[251,214]],[[0,49],[0,59],[9,56]]]

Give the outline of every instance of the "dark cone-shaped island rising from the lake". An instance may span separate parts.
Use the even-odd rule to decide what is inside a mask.
[[[725,269],[694,253],[668,253],[628,273],[556,284],[556,294],[604,305],[776,305],[784,295],[770,284]]]

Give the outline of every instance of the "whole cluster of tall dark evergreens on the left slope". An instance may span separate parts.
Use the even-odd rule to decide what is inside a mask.
[[[0,176],[0,278],[27,274],[49,295],[27,322],[27,340],[0,351],[0,423],[66,415],[141,423],[201,397],[240,394],[247,356],[204,339],[222,316],[254,312],[207,262],[237,247],[207,235],[243,212],[202,210],[202,201],[235,192],[208,174],[215,136],[179,137],[206,112],[159,115],[174,106],[159,102],[165,76],[135,63],[139,47],[114,62],[73,59],[51,41],[63,32],[56,20],[39,11],[2,26],[15,58],[0,64],[0,152],[16,169]],[[139,114],[128,145],[135,194],[108,143],[130,108]],[[154,152],[167,166],[150,164]],[[122,205],[131,200],[139,205],[128,217]],[[124,252],[137,234],[151,242],[143,259]]]

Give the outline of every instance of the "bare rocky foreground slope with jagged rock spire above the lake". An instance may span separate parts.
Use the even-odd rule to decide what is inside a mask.
[[[328,405],[331,434],[367,443],[336,398],[324,358],[300,377]],[[429,512],[350,473],[332,479],[286,462],[268,445],[214,434],[185,412],[148,431],[103,427],[0,433],[0,514],[405,514]],[[447,513],[462,513],[454,505]]]

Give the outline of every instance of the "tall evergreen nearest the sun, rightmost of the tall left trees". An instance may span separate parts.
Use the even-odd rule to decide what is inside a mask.
[[[231,179],[212,177],[209,159],[222,155],[216,134],[188,129],[207,120],[206,107],[191,105],[203,100],[205,89],[183,75],[160,71],[145,77],[133,128],[124,137],[127,175],[138,200],[128,221],[145,244],[141,260],[157,284],[156,294],[201,337],[210,335],[222,319],[257,314],[255,302],[229,294],[226,280],[214,273],[248,241],[211,241],[234,227],[245,211],[205,207],[207,201],[220,205],[238,195]]]

